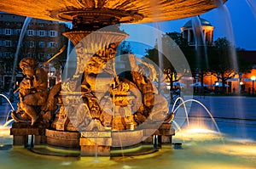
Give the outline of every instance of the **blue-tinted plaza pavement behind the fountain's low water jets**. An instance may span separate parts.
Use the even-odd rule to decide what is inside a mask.
[[[243,96],[194,96],[195,100],[204,104],[216,118],[233,118],[256,121],[256,97]],[[17,102],[15,99],[13,106],[16,110]],[[11,110],[9,103],[2,98],[2,105],[0,105],[0,117],[6,117],[9,110]],[[198,111],[204,110],[200,104],[192,101],[189,115],[197,115]],[[207,116],[207,114],[205,114]]]

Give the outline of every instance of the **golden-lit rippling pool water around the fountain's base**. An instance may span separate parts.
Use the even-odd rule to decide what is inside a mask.
[[[209,126],[198,128],[190,121],[189,128],[177,132],[173,142],[182,143],[182,149],[164,145],[151,155],[98,157],[98,161],[95,157],[58,157],[34,154],[23,148],[0,148],[0,168],[255,168],[255,140],[232,138],[229,134],[212,131]],[[8,127],[2,127],[0,134],[2,145],[12,144]]]

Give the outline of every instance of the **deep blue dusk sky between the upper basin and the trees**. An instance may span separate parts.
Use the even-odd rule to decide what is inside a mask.
[[[247,2],[250,2],[253,8],[250,8]],[[224,10],[224,7],[227,10]],[[206,14],[201,14],[201,18],[208,20],[215,27],[213,41],[217,40],[218,37],[227,37],[230,42],[235,44],[236,48],[256,50],[255,0],[228,0],[224,4],[224,7],[215,8]],[[173,31],[181,32],[180,28],[191,19],[192,17],[147,25],[153,26],[163,33]],[[147,48],[139,43],[134,45],[133,42],[141,42],[142,39],[147,39],[148,42],[155,44],[155,37],[152,30],[147,31],[146,28],[138,24],[122,25],[122,27],[130,35],[126,40],[127,42],[131,41],[132,52],[143,55],[145,54],[145,48]]]

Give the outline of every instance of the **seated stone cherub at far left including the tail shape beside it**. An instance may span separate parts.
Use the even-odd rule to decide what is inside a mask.
[[[32,58],[24,58],[20,61],[20,69],[24,74],[24,79],[20,82],[19,91],[20,102],[18,103],[17,112],[13,112],[12,116],[17,122],[31,121],[34,125],[40,115],[44,121],[49,121],[52,115],[44,115],[49,108],[55,107],[55,94],[51,94],[48,98],[48,77],[43,68],[38,66],[38,62]],[[61,85],[58,85],[61,86]],[[61,87],[54,87],[54,93],[58,93]],[[43,112],[42,112],[43,111]],[[49,112],[48,112],[49,113]]]

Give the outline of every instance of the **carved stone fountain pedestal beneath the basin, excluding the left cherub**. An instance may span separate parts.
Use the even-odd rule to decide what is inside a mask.
[[[42,129],[44,133],[37,127],[13,128],[14,144],[26,144],[28,135],[36,135],[52,147],[79,149],[81,156],[110,156],[111,149],[131,148],[145,139],[153,144],[152,134],[165,138],[159,143],[172,143],[172,125],[161,126],[169,109],[152,83],[154,66],[129,54],[131,79],[115,70],[117,48],[128,35],[111,14],[100,22],[95,13],[92,18],[87,13],[73,16],[73,30],[63,35],[75,45],[77,65],[73,77],[61,82],[49,103],[59,109],[47,119],[51,125]],[[148,66],[150,76],[142,65]]]

